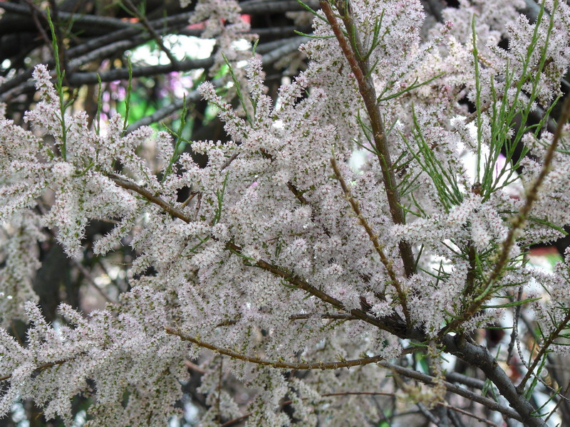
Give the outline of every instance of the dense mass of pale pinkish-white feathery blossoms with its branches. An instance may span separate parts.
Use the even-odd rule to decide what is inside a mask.
[[[31,399],[71,425],[84,394],[86,425],[164,426],[194,361],[203,426],[244,414],[247,426],[364,426],[373,399],[332,394],[380,385],[431,408],[452,355],[484,371],[514,419],[546,425],[472,333],[528,306],[541,345],[567,352],[570,253],[554,273],[526,257],[570,225],[569,102],[550,117],[570,6],[546,0],[529,21],[524,1],[461,0],[427,30],[420,0],[320,6],[305,12],[309,65],[273,100],[261,56],[234,46],[247,30],[237,1],[199,1],[192,22],[219,41],[212,73],[231,70],[228,90],[199,86],[230,139],[192,142],[205,166],[166,132],[69,115],[36,66],[28,127],[0,119],[0,320],[29,322],[25,343],[0,330],[0,415]],[[31,287],[38,243],[56,233],[81,261],[92,221],[115,224],[96,255],[132,248],[129,290],[88,315],[61,305],[49,325]],[[385,369],[413,352],[432,361],[425,389]]]

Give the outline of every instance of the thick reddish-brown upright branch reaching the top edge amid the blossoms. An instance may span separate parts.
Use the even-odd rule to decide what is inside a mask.
[[[390,159],[390,150],[388,149],[388,141],[386,139],[384,122],[380,113],[380,106],[376,99],[377,96],[371,76],[371,69],[366,61],[356,58],[353,48],[351,48],[349,42],[343,35],[341,26],[336,20],[336,16],[329,4],[329,1],[321,0],[320,4],[328,23],[331,24],[338,44],[341,46],[341,50],[343,51],[346,60],[348,60],[348,64],[351,66],[351,70],[356,78],[356,82],[358,83],[358,91],[361,94],[364,105],[366,106],[366,111],[368,112],[368,117],[370,118],[375,152],[378,156],[380,168],[382,169],[384,188],[388,198],[388,206],[390,206],[390,215],[392,216],[394,223],[403,224],[405,223],[404,213],[400,206],[400,194],[396,187],[393,164]],[[350,12],[348,12],[346,16],[343,16],[343,21],[348,34],[353,36],[353,39],[357,40],[358,35],[353,33],[355,26],[350,16]],[[356,43],[358,43],[358,40]],[[361,46],[356,46],[356,50],[356,53],[358,53],[358,51],[362,51]],[[404,263],[405,274],[410,277],[410,275],[413,275],[414,273],[415,266],[412,247],[410,246],[410,243],[405,241],[400,241],[398,243],[398,247],[400,249],[400,257]]]

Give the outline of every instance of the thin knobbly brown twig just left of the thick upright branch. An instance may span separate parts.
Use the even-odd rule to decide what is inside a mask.
[[[341,183],[345,199],[348,201],[349,204],[351,204],[351,208],[356,214],[358,222],[360,222],[361,226],[363,226],[363,228],[366,230],[368,238],[370,238],[376,253],[378,253],[378,256],[380,256],[380,261],[383,263],[384,267],[388,271],[388,275],[390,276],[390,281],[393,287],[395,288],[396,293],[398,294],[398,300],[400,300],[400,305],[402,306],[402,311],[404,312],[405,322],[406,325],[408,325],[409,329],[412,326],[412,322],[410,320],[410,310],[408,310],[408,302],[406,300],[405,292],[402,288],[402,285],[398,281],[398,278],[396,278],[394,269],[392,268],[392,261],[388,260],[388,258],[386,257],[383,250],[383,246],[380,245],[380,242],[378,241],[378,234],[374,233],[372,227],[368,224],[366,218],[364,218],[364,215],[362,214],[360,208],[360,204],[358,203],[358,200],[354,199],[354,197],[352,196],[351,189],[349,189],[348,186],[346,185],[346,182],[344,181],[343,176],[341,174],[341,170],[338,169],[338,164],[336,164],[336,159],[334,157],[331,157],[331,166],[333,167],[336,179],[338,179],[338,182]]]

